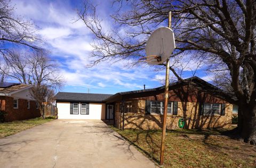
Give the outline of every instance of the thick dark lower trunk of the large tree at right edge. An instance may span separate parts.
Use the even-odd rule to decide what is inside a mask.
[[[244,142],[256,145],[256,103],[242,107],[243,125],[241,136]]]

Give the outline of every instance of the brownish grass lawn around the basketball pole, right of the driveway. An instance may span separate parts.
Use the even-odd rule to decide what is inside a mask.
[[[113,129],[159,163],[162,131]],[[164,167],[256,167],[256,147],[221,136],[221,131],[168,130]]]

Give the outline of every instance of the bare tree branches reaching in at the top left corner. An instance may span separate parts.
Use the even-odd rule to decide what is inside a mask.
[[[14,7],[8,0],[0,0],[0,53],[9,52],[7,45],[22,45],[40,50],[41,41],[34,35],[33,24],[14,14]]]

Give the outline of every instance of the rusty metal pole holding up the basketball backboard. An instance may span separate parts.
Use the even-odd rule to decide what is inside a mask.
[[[171,28],[172,21],[172,12],[169,12],[168,16],[168,27]],[[165,132],[166,132],[166,117],[167,117],[167,106],[169,99],[169,72],[170,72],[170,60],[166,60],[166,73],[165,73],[165,92],[164,92],[164,115],[163,115],[163,132],[162,132],[162,141],[161,141],[161,154],[160,154],[160,165],[164,164],[164,141],[165,141]]]

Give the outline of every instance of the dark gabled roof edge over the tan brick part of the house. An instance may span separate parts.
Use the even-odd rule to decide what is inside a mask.
[[[182,85],[182,84],[186,85],[187,83],[190,83],[190,82],[196,83],[197,85],[201,86],[202,88],[205,88],[206,90],[214,91],[215,93],[218,93],[221,97],[228,97],[228,98],[230,98],[230,99],[232,99],[234,101],[236,100],[236,97],[233,94],[225,93],[225,91],[219,89],[218,87],[215,87],[211,83],[206,82],[203,79],[198,78],[196,76],[184,79],[183,81],[177,81],[177,82],[170,83],[169,89],[170,88],[174,88],[175,86],[178,86],[178,85]],[[132,94],[138,94],[138,93],[148,93],[150,91],[161,91],[161,90],[164,90],[164,89],[165,89],[165,86],[161,86],[161,87],[157,87],[157,88],[153,88],[153,89],[142,89],[142,90],[125,91],[125,92],[117,93],[117,94],[115,94],[115,95],[113,95],[111,97],[108,97],[104,101],[105,102],[109,102],[109,101],[111,102],[111,100],[115,100],[118,97],[120,98],[120,97],[122,97],[124,95],[132,95]]]

